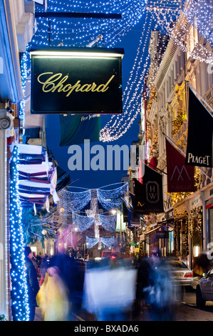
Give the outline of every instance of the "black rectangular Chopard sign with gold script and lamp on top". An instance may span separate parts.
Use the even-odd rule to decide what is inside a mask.
[[[120,114],[123,49],[31,50],[31,114]]]

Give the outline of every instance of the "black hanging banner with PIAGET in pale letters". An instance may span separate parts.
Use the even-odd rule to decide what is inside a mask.
[[[212,167],[213,117],[189,88],[189,125],[185,164]]]

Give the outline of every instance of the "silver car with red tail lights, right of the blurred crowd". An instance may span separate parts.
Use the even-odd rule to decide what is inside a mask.
[[[174,285],[193,286],[193,272],[180,260],[170,260],[167,266],[170,270],[170,276]]]

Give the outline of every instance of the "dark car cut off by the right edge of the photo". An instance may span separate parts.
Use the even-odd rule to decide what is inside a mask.
[[[204,307],[207,301],[213,301],[213,268],[207,272],[207,275],[202,277],[197,282],[196,287],[196,304],[197,307]]]

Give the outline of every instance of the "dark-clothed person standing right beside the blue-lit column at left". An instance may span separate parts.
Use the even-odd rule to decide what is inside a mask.
[[[26,257],[26,283],[28,287],[28,305],[30,310],[29,321],[33,321],[36,312],[36,295],[39,290],[38,279],[36,275],[36,268],[33,265],[33,252],[31,248],[26,246],[24,250]]]

